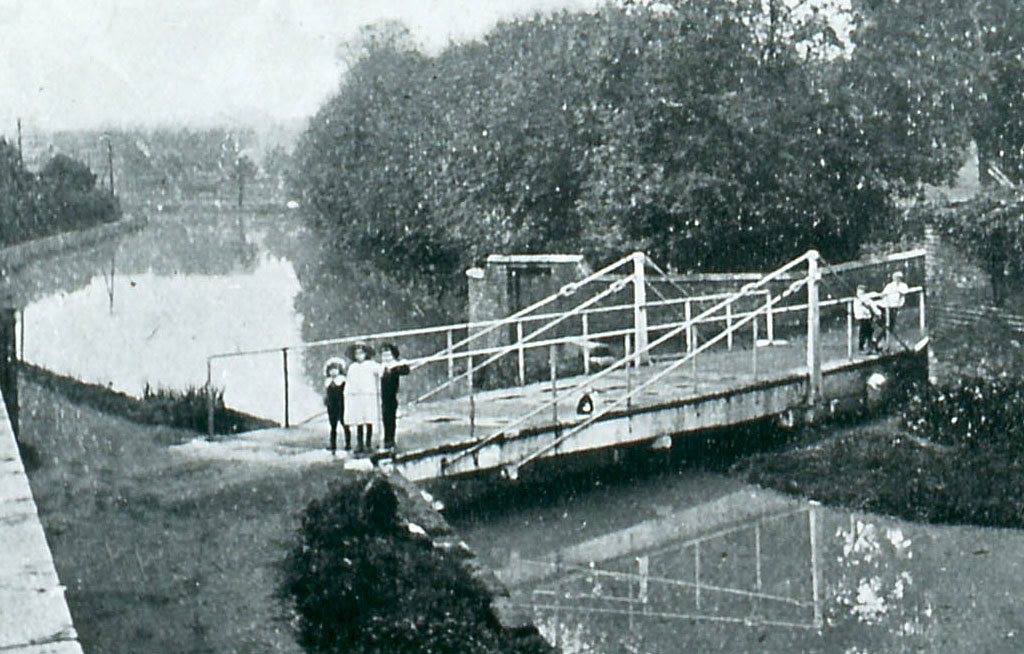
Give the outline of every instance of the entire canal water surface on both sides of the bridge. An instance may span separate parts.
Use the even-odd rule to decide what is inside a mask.
[[[287,209],[180,208],[4,282],[25,307],[26,360],[132,395],[202,385],[214,353],[459,318],[336,264]],[[321,411],[331,354],[291,353],[293,422]],[[282,366],[279,353],[226,359],[214,383],[281,422]],[[1000,595],[1024,577],[1016,531],[815,507],[700,447],[579,463],[435,489],[510,606],[564,652],[1018,650]]]

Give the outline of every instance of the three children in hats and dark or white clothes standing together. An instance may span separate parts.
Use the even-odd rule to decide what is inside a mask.
[[[372,451],[374,425],[384,426],[384,448],[394,449],[395,416],[398,410],[398,382],[409,374],[409,364],[399,358],[398,348],[385,343],[381,360],[374,360],[374,348],[368,343],[353,343],[346,352],[351,360],[331,357],[324,364],[327,380],[324,403],[331,423],[331,444],[338,445],[338,423],[345,433],[345,449],[352,449],[355,429],[356,452]]]

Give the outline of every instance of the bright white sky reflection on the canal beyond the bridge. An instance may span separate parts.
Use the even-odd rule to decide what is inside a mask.
[[[122,272],[93,276],[82,289],[32,303],[25,312],[25,358],[86,382],[139,395],[154,387],[186,388],[206,381],[206,357],[301,341],[292,306],[299,291],[290,262],[263,254],[229,275]],[[291,365],[290,399],[297,415],[316,410],[318,397],[302,383],[301,353]],[[218,362],[214,384],[224,400],[254,415],[281,419],[281,357]]]

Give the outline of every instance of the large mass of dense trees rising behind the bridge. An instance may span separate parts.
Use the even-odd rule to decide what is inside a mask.
[[[375,26],[293,186],[338,256],[444,280],[490,252],[843,259],[898,235],[898,201],[950,180],[971,141],[1022,177],[1024,9],[833,4],[609,3],[436,55]]]

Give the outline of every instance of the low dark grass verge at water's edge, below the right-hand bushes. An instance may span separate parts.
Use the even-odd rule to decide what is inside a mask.
[[[890,418],[741,459],[732,474],[822,504],[938,524],[1024,526],[1024,447],[950,447]]]

